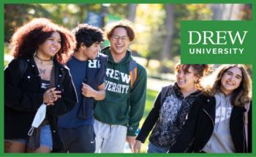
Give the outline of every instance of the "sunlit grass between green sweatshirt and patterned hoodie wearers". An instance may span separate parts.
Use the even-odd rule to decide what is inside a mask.
[[[146,117],[148,116],[148,113],[151,111],[151,108],[154,104],[154,99],[157,98],[157,91],[152,91],[152,90],[147,90],[147,97],[146,97],[146,107],[145,107],[145,111],[143,114],[143,118],[142,120],[140,120],[140,128],[143,125],[143,122],[146,120]],[[149,137],[150,134],[148,134]],[[146,139],[146,142],[144,144],[141,145],[141,153],[146,153],[146,151],[148,150],[148,138]]]

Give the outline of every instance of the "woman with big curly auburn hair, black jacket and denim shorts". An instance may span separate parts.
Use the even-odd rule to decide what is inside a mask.
[[[77,102],[69,70],[63,64],[75,47],[75,37],[45,18],[15,31],[12,55],[4,69],[4,152],[49,153],[63,148],[56,118]],[[46,115],[31,136],[34,116],[45,104]]]

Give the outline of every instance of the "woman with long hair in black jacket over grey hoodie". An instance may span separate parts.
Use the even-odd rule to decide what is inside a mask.
[[[217,72],[211,88],[192,104],[169,153],[252,152],[250,77],[244,66],[237,64],[221,66]]]

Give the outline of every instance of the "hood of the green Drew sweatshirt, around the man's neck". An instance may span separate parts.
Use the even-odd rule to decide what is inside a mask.
[[[108,55],[108,62],[110,62],[111,64],[127,64],[129,63],[129,61],[132,60],[132,52],[127,49],[127,54],[124,56],[124,58],[116,63],[114,60],[113,60],[113,57],[110,53],[110,46],[108,47],[104,47],[102,50],[101,50],[101,53],[105,54],[105,55]]]

